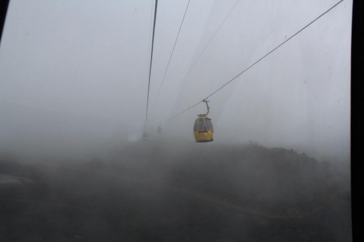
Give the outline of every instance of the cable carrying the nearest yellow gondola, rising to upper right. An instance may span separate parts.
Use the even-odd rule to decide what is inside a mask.
[[[291,37],[289,37],[288,39],[286,39],[285,41],[283,41],[279,46],[277,46],[276,48],[272,49],[271,51],[269,51],[267,54],[265,54],[265,56],[263,56],[262,58],[260,58],[258,61],[256,61],[254,64],[250,65],[248,68],[246,68],[245,70],[243,70],[242,72],[240,72],[238,75],[236,75],[234,78],[232,78],[232,80],[226,82],[223,86],[221,86],[220,88],[218,88],[215,92],[213,92],[212,94],[210,94],[209,96],[207,96],[206,98],[204,98],[202,101],[199,101],[198,103],[196,103],[195,105],[189,107],[188,109],[182,111],[181,113],[178,113],[162,122],[168,121],[172,118],[177,117],[178,115],[186,112],[187,110],[197,106],[198,104],[200,104],[201,102],[205,102],[207,98],[213,96],[215,93],[217,93],[218,91],[220,91],[223,87],[225,87],[227,84],[229,84],[230,82],[232,82],[233,80],[235,80],[237,77],[239,77],[241,74],[243,74],[244,72],[246,72],[248,69],[250,69],[252,66],[254,66],[255,64],[257,64],[258,62],[260,62],[261,60],[263,60],[266,56],[268,56],[269,54],[271,54],[273,51],[275,51],[276,49],[280,48],[283,44],[285,44],[288,40],[292,39],[294,36],[296,36],[299,32],[303,31],[304,29],[306,29],[308,26],[310,26],[312,23],[314,23],[317,19],[319,19],[320,17],[324,16],[325,14],[327,14],[331,9],[333,9],[334,7],[336,7],[339,3],[341,3],[343,0],[340,0],[339,2],[337,2],[335,5],[333,5],[331,8],[329,8],[327,11],[325,11],[323,14],[321,14],[320,16],[316,17],[313,21],[311,21],[309,24],[307,24],[305,27],[303,27],[302,29],[300,29],[298,32],[296,32],[295,34],[293,34]]]

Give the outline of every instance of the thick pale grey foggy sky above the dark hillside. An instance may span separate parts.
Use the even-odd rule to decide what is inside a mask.
[[[209,96],[337,0],[159,0],[146,130]],[[0,152],[82,158],[140,139],[151,0],[12,0],[0,46]],[[352,1],[344,0],[209,98],[215,141],[350,157]],[[155,108],[154,107],[155,103]],[[194,142],[204,103],[162,123]],[[195,144],[210,145],[210,144]]]

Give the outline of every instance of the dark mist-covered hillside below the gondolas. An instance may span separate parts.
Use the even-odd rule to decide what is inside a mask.
[[[136,141],[0,171],[4,241],[351,240],[349,167],[293,149]]]

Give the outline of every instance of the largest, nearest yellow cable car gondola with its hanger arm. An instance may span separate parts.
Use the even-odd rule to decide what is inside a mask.
[[[211,142],[214,140],[214,127],[211,122],[211,118],[207,116],[210,111],[210,107],[207,104],[208,101],[203,100],[207,106],[206,114],[199,114],[198,118],[195,121],[195,125],[193,127],[193,134],[195,136],[196,142]]]

